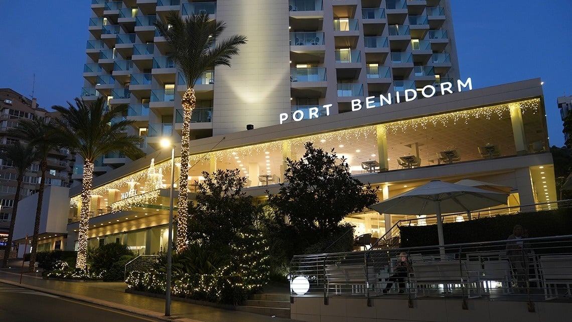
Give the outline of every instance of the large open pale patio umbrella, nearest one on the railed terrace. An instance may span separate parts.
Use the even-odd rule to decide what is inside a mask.
[[[469,212],[498,206],[506,204],[508,197],[506,193],[433,180],[368,208],[379,213],[436,214],[439,245],[444,245],[442,213]]]

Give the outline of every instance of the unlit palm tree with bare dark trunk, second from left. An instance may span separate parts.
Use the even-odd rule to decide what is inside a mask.
[[[38,248],[39,221],[42,214],[43,190],[46,186],[47,154],[62,145],[63,138],[54,128],[54,124],[45,118],[35,120],[21,119],[18,127],[10,131],[10,135],[29,142],[39,153],[39,170],[41,177],[38,189],[38,204],[34,223],[34,236],[32,237],[29,271],[35,267],[35,256]]]

